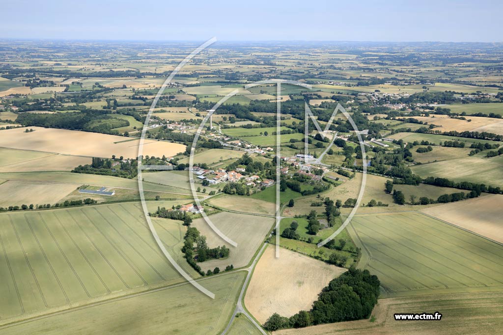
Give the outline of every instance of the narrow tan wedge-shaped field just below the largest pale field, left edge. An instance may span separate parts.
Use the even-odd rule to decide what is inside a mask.
[[[14,151],[14,149],[5,149],[0,150],[0,153],[7,150]],[[20,151],[27,152],[25,150]],[[45,152],[40,153],[47,155]],[[79,165],[85,164],[91,164],[90,157],[52,154],[46,157],[26,159],[18,163],[2,165],[0,166],[0,172],[70,171]]]

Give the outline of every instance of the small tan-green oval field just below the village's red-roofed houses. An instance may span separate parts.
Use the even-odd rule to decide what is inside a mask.
[[[212,205],[229,210],[239,210],[246,213],[259,213],[274,215],[275,203],[254,197],[222,194],[208,200]]]

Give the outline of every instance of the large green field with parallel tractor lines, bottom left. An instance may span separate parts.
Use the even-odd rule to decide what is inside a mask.
[[[142,215],[134,202],[0,214],[2,319],[179,282]]]

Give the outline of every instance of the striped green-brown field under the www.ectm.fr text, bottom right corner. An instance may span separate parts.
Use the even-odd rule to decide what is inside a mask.
[[[472,292],[379,299],[372,311],[374,322],[358,321],[285,329],[274,335],[492,335],[503,328],[502,292]],[[441,321],[395,321],[394,313],[442,313]]]

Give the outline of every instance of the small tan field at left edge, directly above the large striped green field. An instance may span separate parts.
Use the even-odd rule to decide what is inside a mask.
[[[79,185],[8,180],[0,184],[0,207],[46,204],[61,200]]]

